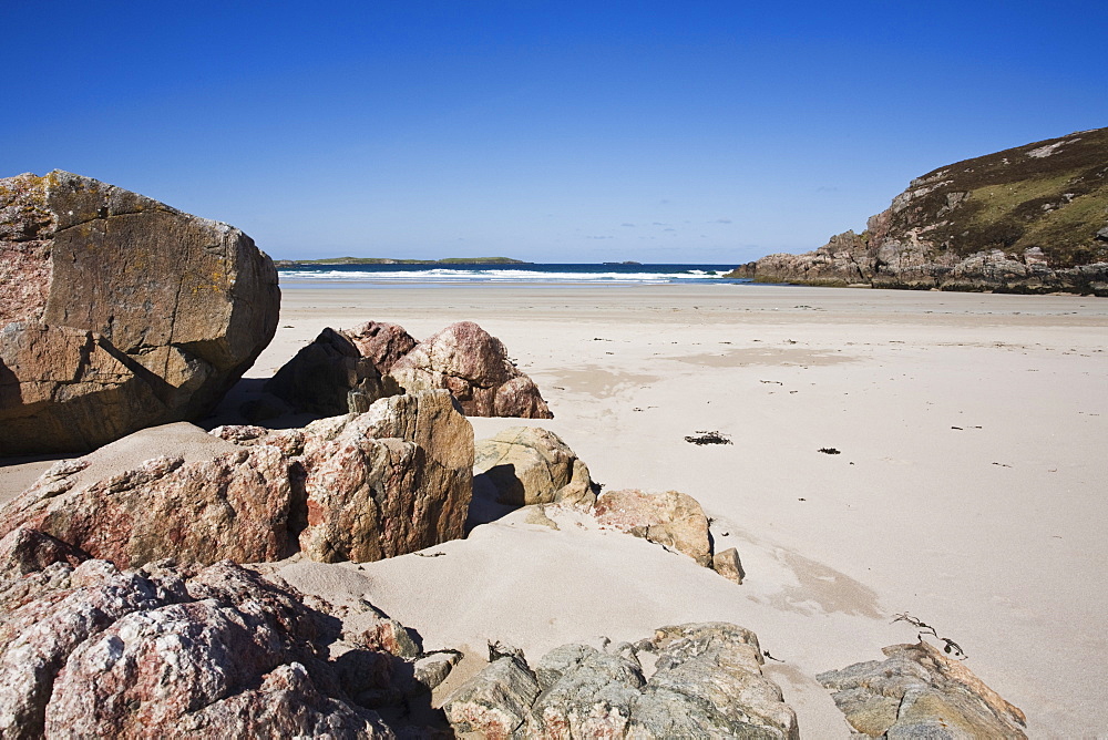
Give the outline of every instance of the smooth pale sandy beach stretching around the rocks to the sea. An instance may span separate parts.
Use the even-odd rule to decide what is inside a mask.
[[[507,516],[362,565],[295,563],[305,590],[365,594],[424,648],[529,658],[567,641],[733,621],[804,737],[848,737],[814,675],[914,641],[910,613],[1028,718],[1108,733],[1108,302],[778,286],[286,287],[256,387],[325,327],[417,338],[473,320],[506,345],[606,489],[677,490],[738,548],[736,586],[630,536]],[[230,408],[235,402],[227,402]],[[731,444],[695,445],[716,431]],[[821,453],[834,449],[840,454]],[[0,469],[7,495],[49,463]],[[463,664],[464,666],[465,664]],[[464,672],[464,671],[463,671]]]

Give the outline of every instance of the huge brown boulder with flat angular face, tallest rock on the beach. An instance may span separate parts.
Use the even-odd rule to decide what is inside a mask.
[[[237,228],[66,172],[0,179],[0,453],[203,417],[279,305]]]

